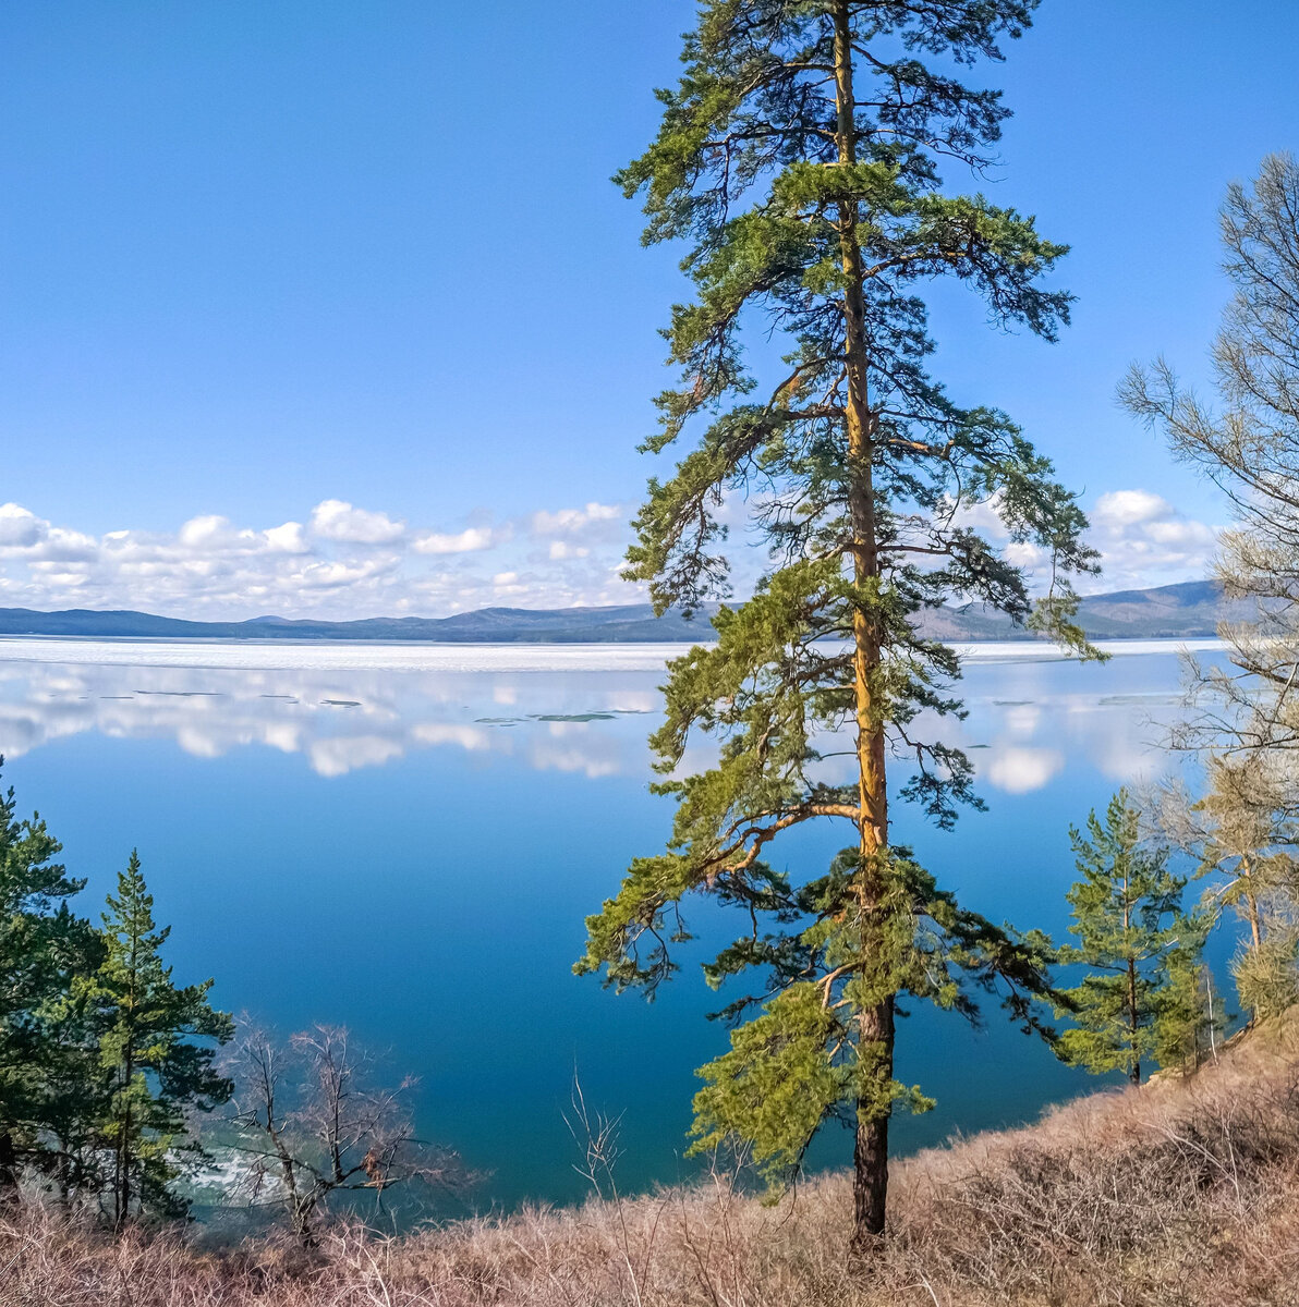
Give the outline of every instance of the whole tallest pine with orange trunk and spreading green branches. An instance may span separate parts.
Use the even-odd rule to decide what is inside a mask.
[[[726,597],[719,510],[746,502],[772,570],[722,608],[716,648],[671,664],[651,741],[655,789],[678,802],[671,843],[589,919],[577,970],[653,992],[688,937],[683,899],[738,908],[744,935],[708,978],[756,968],[759,993],[729,1016],[759,1010],[702,1072],[696,1142],[747,1140],[781,1184],[846,1108],[858,1246],[884,1229],[893,1106],[927,1102],[893,1076],[897,997],[973,1014],[968,972],[1031,1023],[1045,984],[1033,949],[963,911],[891,843],[886,776],[901,753],[903,796],[944,827],[977,805],[968,758],[929,732],[961,711],[960,663],[917,631],[925,609],[981,601],[1092,652],[1071,623],[1069,578],[1095,557],[1082,512],[1005,413],[959,404],[927,370],[924,294],[937,280],[1047,340],[1067,320],[1069,295],[1040,285],[1064,247],[1014,209],[944,193],[938,175],[989,162],[1007,114],[997,91],[944,68],[999,59],[997,42],[1035,7],[704,0],[680,84],[658,93],[659,135],[617,178],[645,199],[646,242],[688,243],[696,291],[672,308],[682,384],[659,397],[646,448],[704,423],[675,473],[650,481],[628,575],[661,612]],[[761,397],[742,324],[789,346]],[[973,525],[979,506],[1049,574],[1036,606]],[[822,741],[840,729],[852,763],[825,766]],[[683,778],[695,732],[719,757]],[[772,840],[810,821],[854,827],[852,846],[819,874],[777,870]]]

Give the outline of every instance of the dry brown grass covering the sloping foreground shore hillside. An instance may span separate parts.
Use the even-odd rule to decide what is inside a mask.
[[[778,1208],[723,1182],[528,1210],[311,1259],[276,1242],[111,1244],[0,1221],[4,1307],[1299,1307],[1299,1014],[1190,1081],[1098,1094],[895,1168],[893,1229],[845,1257],[842,1176]]]

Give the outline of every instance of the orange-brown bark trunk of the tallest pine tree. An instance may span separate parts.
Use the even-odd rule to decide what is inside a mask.
[[[836,137],[840,165],[857,162],[853,105],[853,48],[848,0],[835,5]],[[852,525],[853,579],[866,587],[879,576],[875,498],[871,486],[873,418],[867,391],[866,308],[862,291],[857,207],[839,208],[840,256],[844,271],[844,356],[848,371],[848,511]],[[888,842],[884,788],[884,732],[873,701],[880,665],[879,634],[871,618],[853,612],[853,689],[857,707],[858,816],[861,867],[857,891],[862,914],[862,951],[879,945],[879,855]],[[858,1060],[863,1068],[853,1149],[853,1246],[869,1246],[884,1233],[888,1199],[888,1098],[893,1074],[893,1002],[887,997],[858,1018]],[[867,1084],[869,1082],[869,1084]]]

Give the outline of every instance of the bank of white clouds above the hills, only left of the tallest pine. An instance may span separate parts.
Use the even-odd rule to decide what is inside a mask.
[[[578,515],[608,520],[599,505]],[[0,606],[226,621],[442,617],[504,599],[532,608],[636,599],[612,571],[616,537],[552,540],[564,548],[538,553],[531,519],[430,531],[326,499],[302,519],[266,528],[199,514],[171,532],[118,528],[95,537],[9,503],[0,506]]]

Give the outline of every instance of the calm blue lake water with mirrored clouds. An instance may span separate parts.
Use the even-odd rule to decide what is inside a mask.
[[[1167,766],[1177,652],[1139,648],[1103,667],[980,655],[948,735],[988,812],[943,834],[899,805],[895,839],[968,906],[1062,932],[1069,825]],[[583,1193],[574,1070],[621,1114],[619,1178],[644,1188],[689,1174],[692,1073],[726,1043],[693,966],[654,1004],[570,974],[583,916],[670,826],[646,792],[665,652],[0,640],[0,753],[89,878],[82,912],[139,847],[179,980],[216,976],[222,1006],[285,1033],[330,1022],[389,1050],[420,1077],[423,1132],[489,1172],[477,1205],[566,1201]],[[818,870],[842,842],[774,860]],[[900,1149],[1094,1084],[996,1006],[981,1031],[917,1009],[899,1076],[938,1098],[897,1121]],[[833,1129],[818,1161],[846,1157]]]

